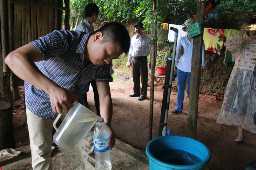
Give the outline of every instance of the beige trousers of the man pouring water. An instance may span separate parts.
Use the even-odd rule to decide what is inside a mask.
[[[33,170],[52,170],[53,121],[36,116],[26,108]],[[86,170],[95,170],[93,128],[78,146]]]

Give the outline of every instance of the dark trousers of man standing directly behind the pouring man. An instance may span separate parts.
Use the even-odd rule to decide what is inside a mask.
[[[98,93],[98,90],[97,90],[95,80],[92,80],[92,81],[87,82],[85,84],[80,84],[80,89],[81,89],[82,97],[83,97],[83,103],[89,109],[86,93],[89,91],[90,83],[91,83],[92,88],[93,88],[94,104],[95,104],[96,112],[97,112],[97,115],[100,116],[100,98],[99,98],[99,93]]]

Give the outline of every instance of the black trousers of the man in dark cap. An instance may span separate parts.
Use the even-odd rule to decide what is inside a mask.
[[[132,60],[133,73],[133,91],[135,94],[147,97],[148,92],[148,58],[146,56],[133,57]],[[140,78],[142,87],[140,88]]]

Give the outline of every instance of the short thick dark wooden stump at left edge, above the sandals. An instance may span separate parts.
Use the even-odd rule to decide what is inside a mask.
[[[15,148],[12,119],[11,105],[0,101],[0,150]]]

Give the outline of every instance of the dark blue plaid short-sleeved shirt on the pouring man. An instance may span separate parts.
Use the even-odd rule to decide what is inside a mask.
[[[80,103],[83,102],[79,84],[91,80],[113,81],[109,74],[110,65],[85,63],[83,53],[88,38],[89,34],[81,31],[55,30],[31,42],[45,56],[45,60],[35,62],[40,71],[59,86],[78,95]],[[41,118],[53,119],[55,113],[49,95],[28,82],[24,87],[26,107]]]

